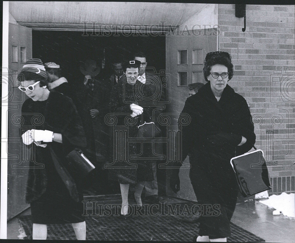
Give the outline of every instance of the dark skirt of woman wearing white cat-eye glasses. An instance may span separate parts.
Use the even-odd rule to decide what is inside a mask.
[[[50,157],[48,157],[50,158]],[[79,201],[74,201],[53,166],[46,161],[47,187],[40,198],[31,203],[32,222],[35,224],[66,224],[85,221],[83,193],[78,186]]]

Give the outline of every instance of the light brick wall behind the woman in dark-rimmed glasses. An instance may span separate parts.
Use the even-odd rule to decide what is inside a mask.
[[[235,5],[218,5],[220,50],[234,64],[229,84],[250,105],[271,177],[295,175],[294,12],[294,5],[246,5],[242,32]]]

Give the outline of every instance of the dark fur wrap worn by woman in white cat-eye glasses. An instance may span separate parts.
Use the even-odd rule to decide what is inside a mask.
[[[43,113],[44,122],[42,119],[34,119],[34,105],[32,99],[27,99],[22,106],[22,117],[24,123],[22,127],[27,129],[42,129],[49,130],[55,133],[62,134],[63,143],[51,142],[48,143],[58,157],[60,166],[56,170],[61,170],[65,175],[68,175],[65,169],[66,163],[65,156],[74,148],[82,148],[86,146],[86,137],[84,135],[81,119],[78,116],[77,110],[73,101],[61,93],[51,91],[46,101],[45,110]],[[39,198],[46,190],[47,176],[45,168],[38,168],[36,163],[45,164],[44,156],[50,155],[49,147],[37,147],[34,143],[27,146],[30,150],[31,156],[30,169],[27,183],[26,201],[31,203]],[[35,153],[34,153],[35,151]],[[34,163],[35,162],[35,163]],[[75,181],[71,176],[62,178],[65,186],[67,187],[71,197],[78,201],[78,191]]]

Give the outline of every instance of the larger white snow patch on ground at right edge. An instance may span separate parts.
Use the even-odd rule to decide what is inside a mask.
[[[284,216],[295,218],[295,194],[283,192],[281,195],[272,195],[269,199],[260,200],[260,203],[267,205],[276,211],[282,212]],[[277,214],[274,214],[277,215]]]

